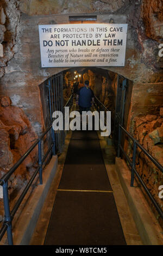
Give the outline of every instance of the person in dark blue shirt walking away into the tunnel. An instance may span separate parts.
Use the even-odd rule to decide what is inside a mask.
[[[79,105],[79,112],[90,111],[90,107],[94,103],[95,95],[91,88],[89,88],[89,81],[86,80],[84,86],[81,87],[76,96],[76,103]]]

